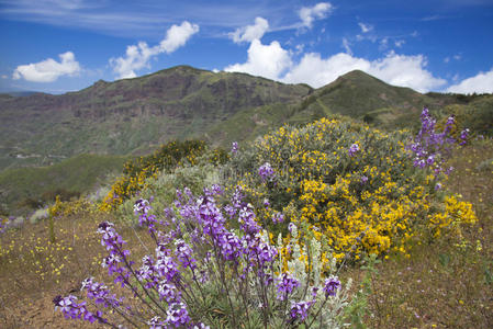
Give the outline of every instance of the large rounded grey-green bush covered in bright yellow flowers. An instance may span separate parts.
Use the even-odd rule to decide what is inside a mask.
[[[475,218],[471,205],[455,196],[445,200],[442,213],[432,206],[444,204],[441,192],[413,166],[408,136],[345,120],[283,126],[234,155],[236,174],[228,181],[243,188],[274,234],[285,234],[290,222],[300,235],[326,241],[332,254],[323,262],[406,252],[412,239],[429,229],[437,236],[453,223],[459,227]],[[284,213],[283,225],[270,219],[276,212]]]

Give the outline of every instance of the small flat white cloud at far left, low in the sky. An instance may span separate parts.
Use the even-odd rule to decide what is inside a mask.
[[[61,76],[75,76],[80,71],[79,63],[71,52],[58,55],[60,61],[53,58],[40,63],[20,65],[13,71],[14,80],[24,79],[32,82],[53,82]]]

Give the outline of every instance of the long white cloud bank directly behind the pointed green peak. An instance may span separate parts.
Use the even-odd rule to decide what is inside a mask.
[[[390,84],[426,92],[446,83],[444,79],[436,78],[426,70],[426,58],[423,55],[406,56],[394,52],[372,61],[343,53],[325,59],[320,54],[310,53],[305,54],[282,80],[290,83],[304,82],[318,88],[330,83],[341,75],[358,69]]]

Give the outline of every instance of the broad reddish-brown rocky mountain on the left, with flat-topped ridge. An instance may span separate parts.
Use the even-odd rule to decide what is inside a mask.
[[[293,103],[311,92],[244,73],[179,66],[135,79],[98,81],[63,95],[0,98],[0,170],[85,152],[145,154],[200,136],[237,112]]]

